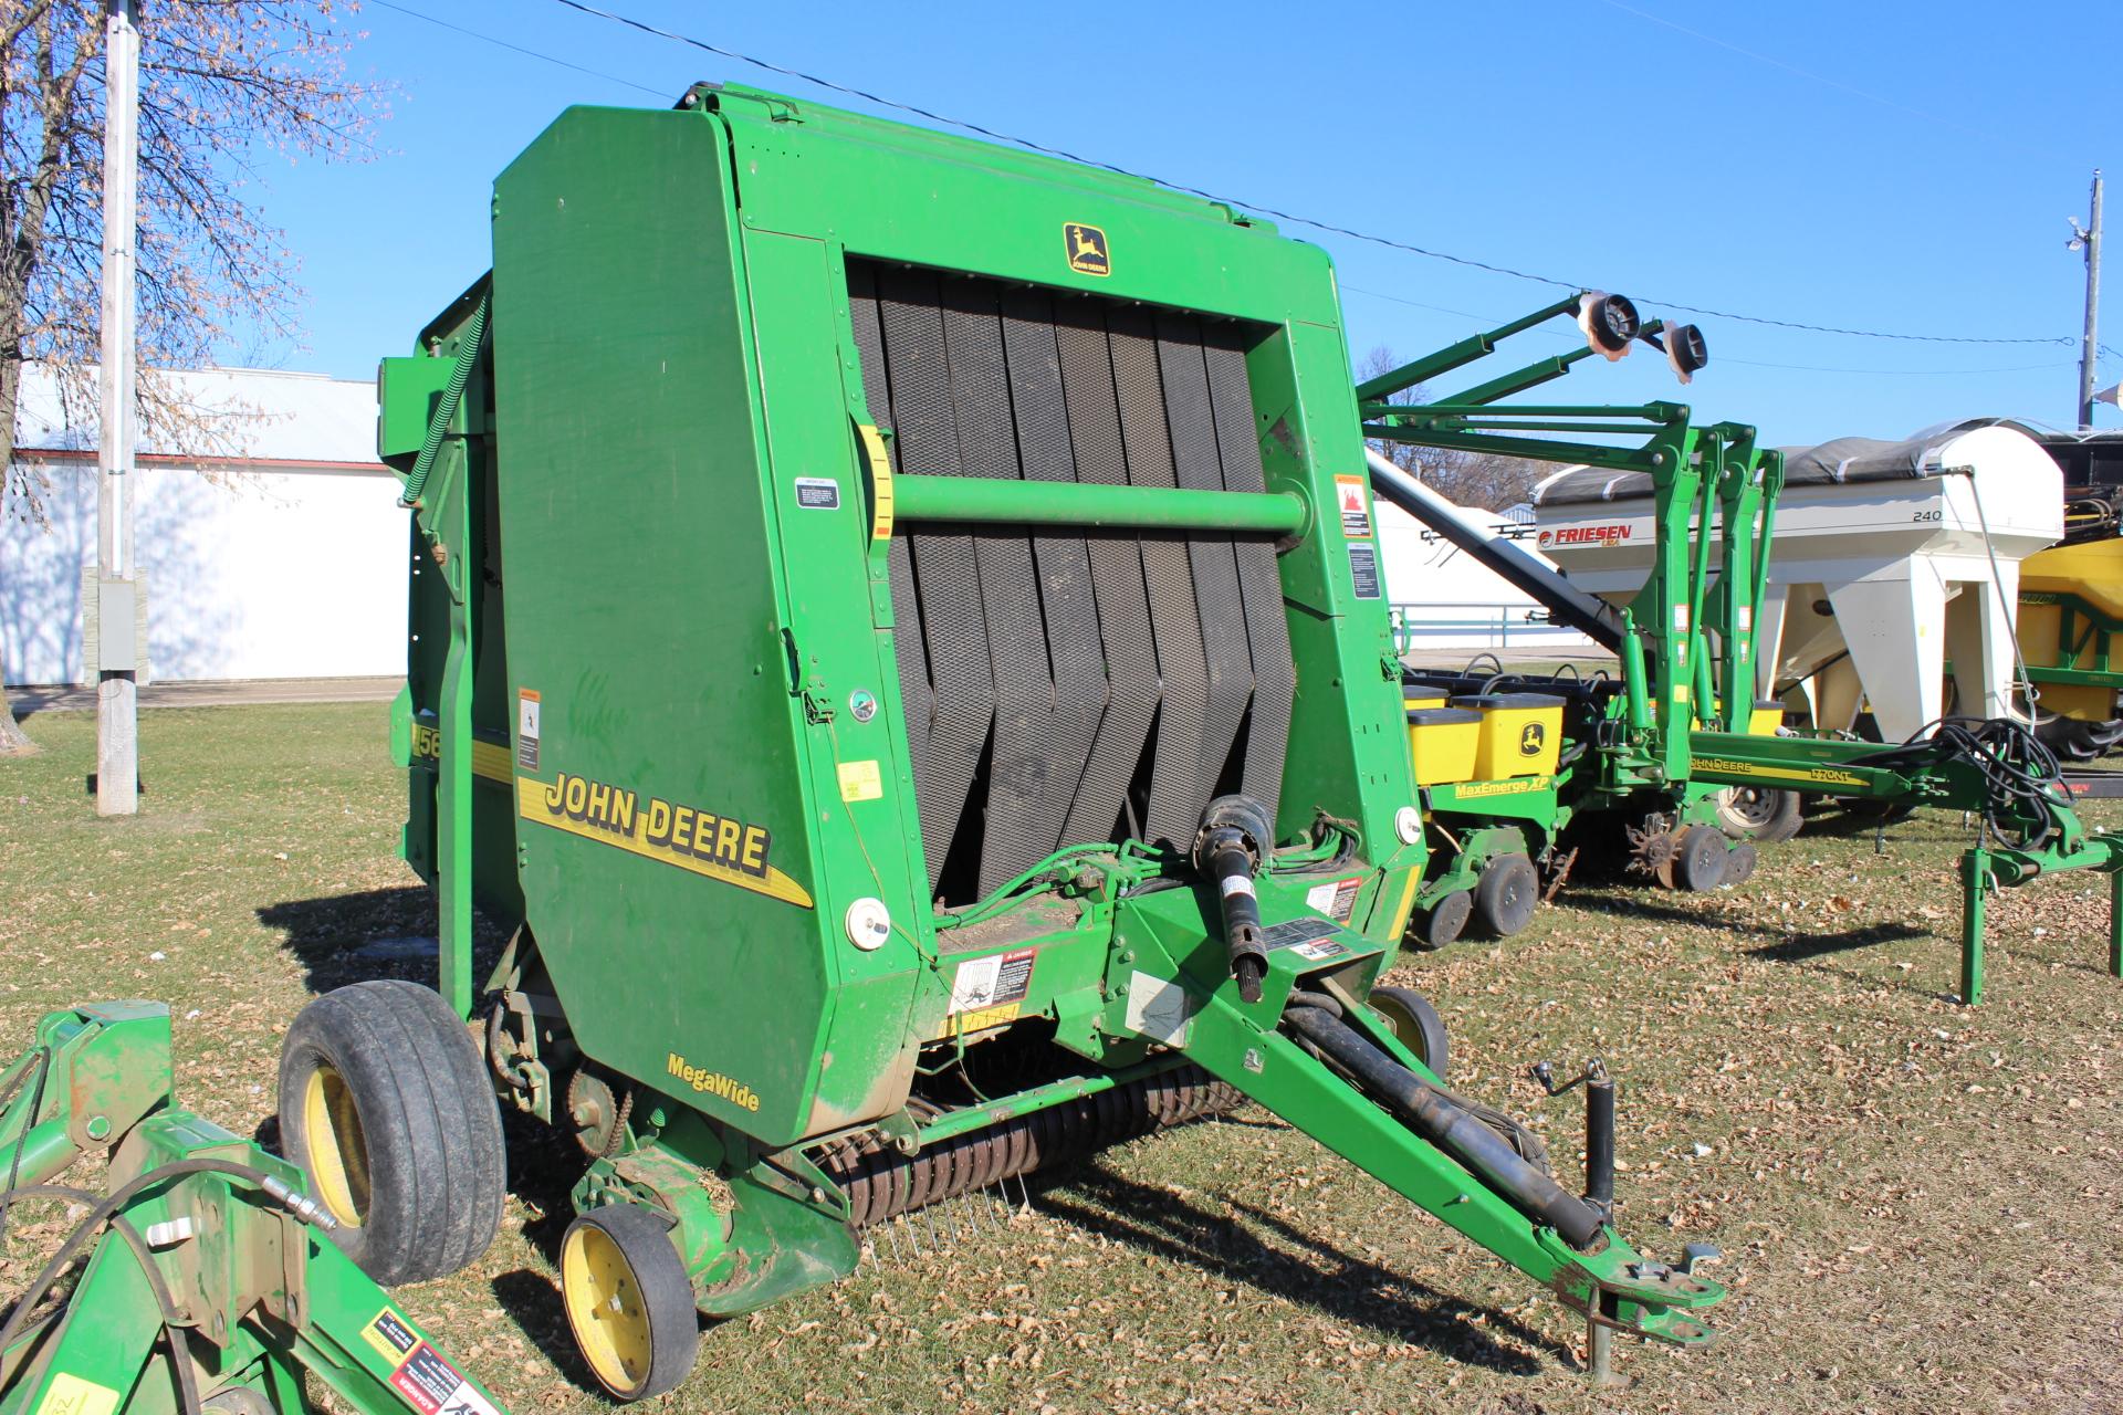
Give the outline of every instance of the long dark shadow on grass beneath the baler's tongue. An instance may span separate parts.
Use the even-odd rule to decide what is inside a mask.
[[[1034,1175],[1032,1192],[1042,1213],[1085,1233],[1246,1283],[1337,1322],[1369,1328],[1386,1341],[1422,1345],[1503,1375],[1539,1373],[1541,1364],[1533,1356],[1503,1345],[1492,1334],[1507,1332],[1565,1364],[1571,1362],[1571,1353],[1560,1345],[1495,1307],[1467,1303],[1405,1273],[1350,1256],[1327,1239],[1293,1228],[1253,1205],[1231,1203],[1244,1220],[1233,1222],[1170,1190],[1123,1180],[1098,1165],[1059,1169],[1047,1175],[1045,1184]],[[1255,1228],[1265,1228],[1280,1243],[1304,1250],[1304,1256],[1265,1241]]]

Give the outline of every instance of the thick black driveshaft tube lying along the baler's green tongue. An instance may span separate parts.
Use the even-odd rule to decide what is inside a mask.
[[[1329,1061],[1357,1078],[1374,1101],[1397,1114],[1412,1131],[1467,1165],[1512,1205],[1556,1233],[1571,1247],[1590,1247],[1601,1235],[1601,1216],[1546,1173],[1520,1158],[1503,1135],[1442,1090],[1397,1065],[1321,1008],[1291,1008],[1282,1014],[1291,1031],[1316,1046]]]

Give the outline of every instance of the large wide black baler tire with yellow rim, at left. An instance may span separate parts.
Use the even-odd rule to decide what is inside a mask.
[[[507,1150],[480,1046],[435,989],[376,980],[310,1001],[280,1044],[280,1148],[384,1286],[446,1277],[501,1226]]]

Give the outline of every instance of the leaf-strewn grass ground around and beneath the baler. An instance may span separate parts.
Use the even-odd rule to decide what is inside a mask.
[[[238,1133],[274,1105],[316,989],[420,963],[397,861],[384,709],[142,713],[146,796],[98,821],[87,713],[0,762],[0,1035],[49,1008],[157,997],[178,1088]],[[703,1337],[681,1411],[2078,1411],[2123,1404],[2115,1239],[2123,984],[2091,876],[1991,912],[1991,997],[1955,986],[1957,817],[1764,851],[1707,897],[1573,887],[1509,944],[1399,980],[1452,1029],[1454,1084],[1577,1163],[1580,1110],[1524,1078],[1601,1054],[1622,1078],[1620,1224],[1656,1254],[1724,1247],[1709,1351],[1622,1345],[1488,1254],[1248,1110],[974,1201],[856,1277]],[[157,957],[159,955],[159,957]],[[13,1050],[13,1042],[0,1050]],[[594,1409],[554,1292],[577,1160],[514,1135],[501,1241],[399,1296],[518,1411]],[[930,1228],[934,1224],[934,1239]],[[0,1266],[0,1290],[23,1262]]]

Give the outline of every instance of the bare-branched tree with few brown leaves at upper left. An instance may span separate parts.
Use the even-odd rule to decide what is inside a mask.
[[[346,0],[155,0],[140,19],[140,418],[170,452],[214,435],[155,378],[231,339],[297,333],[295,259],[255,206],[267,159],[369,149],[376,85],[346,78]],[[0,477],[15,465],[23,367],[87,405],[102,301],[104,2],[0,0]],[[0,683],[0,753],[30,749]]]

